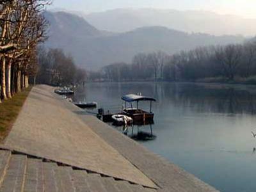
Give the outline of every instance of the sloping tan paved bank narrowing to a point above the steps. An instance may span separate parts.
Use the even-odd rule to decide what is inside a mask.
[[[49,86],[29,93],[4,147],[152,188],[157,186],[70,111]]]

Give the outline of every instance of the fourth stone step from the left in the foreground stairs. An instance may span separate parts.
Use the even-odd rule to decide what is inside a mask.
[[[58,192],[57,181],[55,177],[55,169],[57,168],[56,163],[42,163],[42,179],[44,191],[47,192]]]

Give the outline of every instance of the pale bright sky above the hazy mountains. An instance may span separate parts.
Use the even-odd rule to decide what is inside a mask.
[[[221,14],[256,18],[256,0],[52,0],[51,8],[84,13],[115,8],[163,8],[175,10],[205,10]]]

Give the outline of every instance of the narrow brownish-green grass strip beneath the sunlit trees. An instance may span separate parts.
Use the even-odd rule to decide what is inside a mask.
[[[12,125],[19,115],[26,98],[28,97],[31,87],[26,88],[23,92],[17,93],[12,99],[4,100],[0,104],[0,142],[8,136]]]

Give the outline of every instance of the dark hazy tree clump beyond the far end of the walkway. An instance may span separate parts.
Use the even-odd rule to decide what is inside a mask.
[[[72,56],[61,49],[38,47],[38,64],[36,83],[67,86],[86,81],[86,71],[76,67]]]

